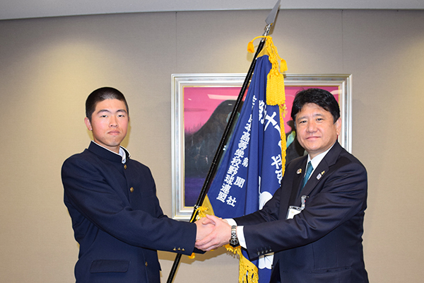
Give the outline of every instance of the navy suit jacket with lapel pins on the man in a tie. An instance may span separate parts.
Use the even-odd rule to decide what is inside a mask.
[[[244,225],[249,257],[274,252],[274,282],[368,282],[362,245],[365,167],[336,142],[299,194],[306,162],[302,156],[288,163],[281,187],[264,208],[235,219]],[[290,206],[301,206],[302,195],[305,209],[286,219]]]

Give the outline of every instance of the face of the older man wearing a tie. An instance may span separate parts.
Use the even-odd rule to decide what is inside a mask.
[[[298,141],[311,158],[329,149],[340,134],[341,119],[334,122],[333,115],[315,103],[303,105],[295,122]]]

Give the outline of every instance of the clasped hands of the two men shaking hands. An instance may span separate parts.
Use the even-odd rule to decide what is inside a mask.
[[[194,222],[197,226],[195,247],[199,250],[213,250],[230,243],[231,226],[225,219],[206,215]]]

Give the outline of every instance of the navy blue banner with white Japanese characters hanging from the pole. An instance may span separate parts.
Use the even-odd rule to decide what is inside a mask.
[[[268,55],[257,59],[240,117],[208,191],[216,216],[234,218],[256,212],[280,187],[280,112],[278,105],[266,105],[270,69]],[[259,267],[259,282],[269,282],[272,257],[254,263]]]

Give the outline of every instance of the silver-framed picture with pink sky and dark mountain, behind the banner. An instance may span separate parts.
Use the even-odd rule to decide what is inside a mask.
[[[211,166],[227,119],[246,74],[172,74],[172,218],[188,220]],[[323,88],[341,110],[341,146],[351,152],[351,83],[349,74],[285,74],[284,131],[294,131],[290,112],[298,91]],[[283,127],[281,127],[283,129]],[[302,156],[294,140],[287,158]]]

